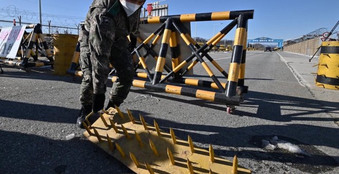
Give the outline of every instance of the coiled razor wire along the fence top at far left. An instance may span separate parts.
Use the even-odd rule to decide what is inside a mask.
[[[22,20],[29,21],[32,24],[39,23],[40,21],[39,13],[35,13],[30,10],[19,9],[16,8],[14,5],[0,8],[0,19],[17,20],[18,16],[21,16]],[[53,25],[62,27],[74,27],[77,26],[81,21],[83,21],[84,17],[42,13],[42,23],[44,25],[48,25],[47,21],[49,20]]]

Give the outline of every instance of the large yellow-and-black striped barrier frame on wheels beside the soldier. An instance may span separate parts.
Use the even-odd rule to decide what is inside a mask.
[[[148,79],[149,81],[136,79],[133,85],[139,88],[221,102],[227,105],[227,111],[232,114],[235,106],[240,105],[240,102],[243,101],[243,94],[248,92],[248,86],[246,86],[244,82],[246,73],[247,27],[248,20],[253,18],[253,13],[253,10],[244,10],[148,17],[142,19],[141,23],[143,24],[163,24],[148,37],[144,39],[138,38],[140,45],[131,53],[132,55],[137,55],[139,58],[139,63],[136,63],[135,67],[136,76]],[[206,43],[196,42],[182,24],[184,22],[208,20],[232,21]],[[209,55],[209,52],[219,46],[219,41],[234,27],[236,27],[236,33],[234,46],[232,48],[233,53],[230,69],[227,73],[227,71]],[[190,56],[183,59],[181,58],[177,35],[180,36],[179,38],[181,38],[186,46],[193,52]],[[153,49],[160,40],[161,47],[159,54],[157,54]],[[170,49],[168,49],[168,47],[170,47]],[[146,50],[144,55],[141,55],[141,49]],[[171,59],[172,66],[168,66],[165,61],[168,50],[172,53],[171,57],[168,58]],[[157,62],[153,74],[148,69],[146,57],[153,57]],[[219,81],[210,66],[203,59],[204,57],[227,79],[227,83],[221,83]],[[201,64],[212,81],[184,77],[186,73],[192,70],[198,63]],[[145,73],[137,73],[138,69],[142,69]],[[74,66],[70,68],[68,73],[72,75],[82,75],[81,72],[74,69]],[[113,77],[110,78],[114,79]],[[175,85],[175,83],[186,84],[188,86],[187,88],[186,86],[183,88]],[[189,85],[216,89],[218,92],[206,91],[204,89],[196,90],[196,88],[191,89]]]

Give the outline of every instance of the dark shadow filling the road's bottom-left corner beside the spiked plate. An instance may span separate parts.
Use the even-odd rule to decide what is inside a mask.
[[[85,139],[52,140],[3,130],[0,137],[1,173],[132,173]]]

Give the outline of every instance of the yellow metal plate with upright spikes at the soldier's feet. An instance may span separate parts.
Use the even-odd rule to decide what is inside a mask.
[[[111,107],[95,123],[83,122],[83,135],[136,173],[251,173],[238,165],[237,156],[225,160],[214,153],[212,144],[209,149],[198,147],[194,137],[182,140],[174,129],[164,132],[156,120],[151,125],[138,117]]]

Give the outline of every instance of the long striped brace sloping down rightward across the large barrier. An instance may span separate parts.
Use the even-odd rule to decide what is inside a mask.
[[[182,32],[181,27],[179,25],[176,24],[175,21],[173,21],[173,26],[175,27],[175,29],[179,32],[180,36],[182,37],[182,39],[186,42],[187,46],[190,47],[190,49],[193,52],[197,52],[197,50],[194,48],[193,44],[191,43],[191,41],[186,37],[186,35]],[[218,80],[218,78],[215,76],[215,74],[213,73],[213,71],[210,69],[210,67],[208,66],[208,64],[205,62],[205,60],[200,56],[199,53],[195,54],[196,57],[199,59],[201,66],[203,67],[203,69],[208,73],[208,75],[212,78],[212,80],[217,84],[219,90],[224,93],[225,89],[223,88],[223,86],[221,85],[220,81]]]

